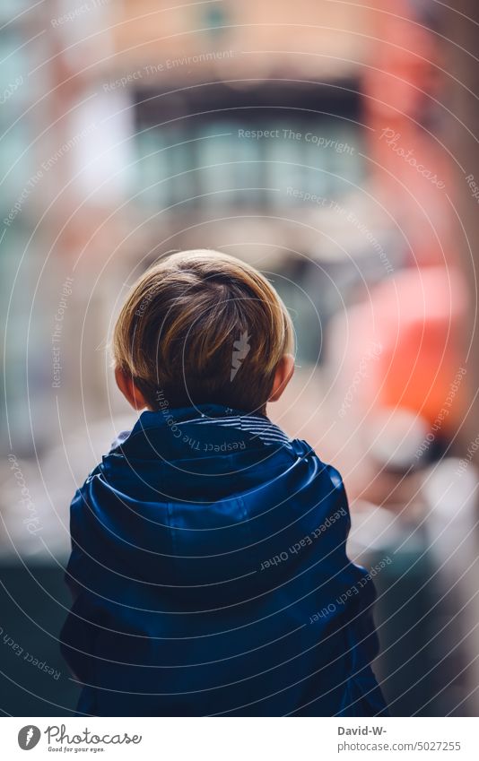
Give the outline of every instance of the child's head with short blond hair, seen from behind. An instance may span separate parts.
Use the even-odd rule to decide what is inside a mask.
[[[136,409],[213,402],[264,411],[292,376],[291,317],[254,267],[173,254],[135,284],[115,326],[117,383]]]

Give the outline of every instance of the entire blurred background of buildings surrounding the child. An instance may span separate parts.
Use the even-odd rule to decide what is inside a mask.
[[[4,713],[74,709],[68,506],[135,421],[112,325],[152,261],[192,247],[255,264],[292,312],[298,367],[269,413],[342,471],[353,557],[392,558],[391,713],[477,712],[474,13],[4,0]]]

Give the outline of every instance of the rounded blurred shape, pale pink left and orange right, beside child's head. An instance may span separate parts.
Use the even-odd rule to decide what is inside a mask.
[[[396,272],[328,329],[338,393],[353,386],[360,418],[408,410],[435,431],[455,430],[466,402],[467,290],[455,267]]]

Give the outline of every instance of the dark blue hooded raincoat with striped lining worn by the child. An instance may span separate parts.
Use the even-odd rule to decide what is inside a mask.
[[[71,506],[62,652],[100,716],[373,716],[344,486],[266,415],[146,411]]]

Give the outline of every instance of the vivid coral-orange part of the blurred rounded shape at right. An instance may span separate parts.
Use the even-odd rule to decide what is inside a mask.
[[[460,272],[446,267],[402,272],[373,293],[382,349],[371,381],[381,406],[404,407],[431,426],[457,428],[466,393],[459,359],[466,299]]]

